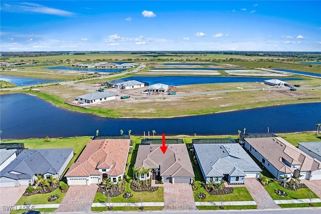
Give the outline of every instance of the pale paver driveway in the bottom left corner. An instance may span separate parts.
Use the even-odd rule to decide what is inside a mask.
[[[22,194],[26,191],[27,185],[21,185],[16,187],[0,187],[0,204],[1,214],[10,213],[10,210],[6,209],[8,206],[15,205]]]

